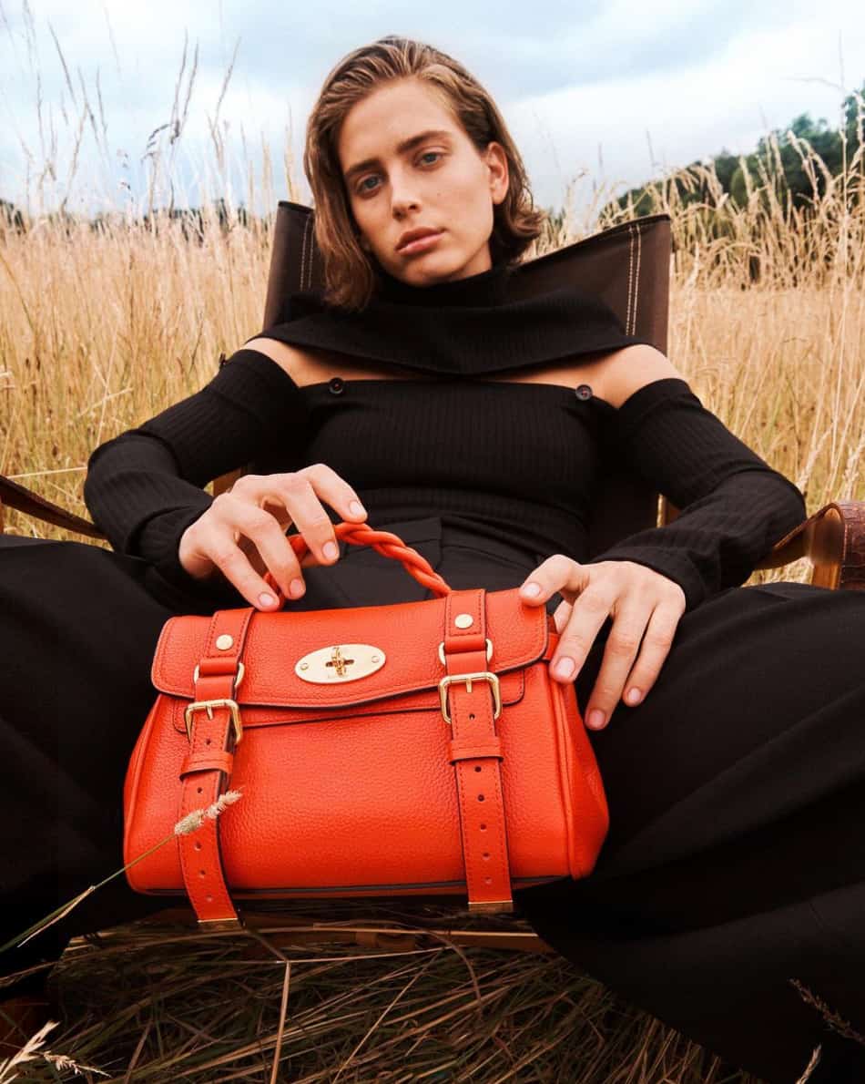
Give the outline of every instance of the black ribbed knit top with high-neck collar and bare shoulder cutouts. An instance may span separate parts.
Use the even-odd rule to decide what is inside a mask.
[[[693,609],[743,583],[805,518],[800,491],[708,411],[687,383],[654,380],[617,410],[589,385],[483,375],[645,341],[598,299],[564,287],[512,300],[509,271],[418,287],[380,274],[357,313],[313,295],[258,335],[410,369],[426,379],[335,378],[298,387],[258,350],[238,349],[199,391],[100,444],[85,501],[115,550],[142,557],[190,609],[246,606],[223,577],[195,580],[180,538],[210,505],[203,487],[241,466],[257,474],[327,463],[351,483],[366,521],[440,515],[537,555],[586,559],[603,457],[615,447],[680,516],[601,560],[667,576]],[[249,340],[247,340],[249,341]],[[325,505],[334,521],[339,517]]]

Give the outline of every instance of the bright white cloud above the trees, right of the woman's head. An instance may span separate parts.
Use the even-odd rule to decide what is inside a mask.
[[[855,73],[849,92],[865,81],[865,20],[841,34],[845,67]],[[783,29],[736,37],[698,65],[525,100],[512,107],[509,121],[535,166],[539,190],[561,191],[581,168],[599,178],[598,147],[608,182],[640,183],[722,149],[747,153],[800,113],[837,126],[842,94],[829,83],[840,80],[838,43],[838,25],[809,12]]]

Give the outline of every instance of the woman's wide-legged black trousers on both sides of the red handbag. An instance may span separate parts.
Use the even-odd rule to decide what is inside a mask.
[[[375,526],[457,589],[516,586],[545,556],[438,516]],[[175,614],[212,610],[154,571],[88,543],[0,535],[0,943],[122,865],[156,641]],[[398,562],[346,543],[305,575],[287,607],[430,597]],[[610,625],[577,678],[581,710]],[[817,1044],[812,1082],[865,1081],[865,1047],[790,981],[865,1034],[863,662],[865,592],[732,588],[685,614],[644,701],[589,732],[611,817],[592,876],[515,892],[580,969],[770,1084],[792,1084]],[[166,905],[114,878],[2,954],[0,973]]]

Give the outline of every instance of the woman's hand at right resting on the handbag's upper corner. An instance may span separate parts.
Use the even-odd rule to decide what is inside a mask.
[[[533,596],[526,593],[531,583],[541,588]],[[601,730],[625,685],[622,700],[629,706],[640,704],[651,688],[685,611],[685,592],[668,577],[632,560],[581,565],[554,553],[521,584],[520,598],[528,605],[544,605],[556,592],[563,597],[553,614],[560,640],[550,672],[557,681],[576,680],[598,630],[612,615],[604,660],[585,711],[586,726]],[[563,659],[571,661],[567,673],[556,671]]]

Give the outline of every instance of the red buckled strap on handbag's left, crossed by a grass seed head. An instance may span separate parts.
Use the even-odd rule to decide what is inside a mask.
[[[195,700],[234,700],[249,621],[244,609],[217,610],[207,631],[205,653],[198,662]],[[223,646],[220,646],[223,645]],[[212,715],[212,718],[210,718]],[[180,772],[178,820],[206,809],[229,788],[234,761],[234,723],[228,705],[196,708],[192,713],[190,752]],[[220,816],[225,816],[221,813]],[[242,927],[225,883],[219,846],[219,816],[208,817],[195,831],[178,836],[180,867],[198,925]]]

